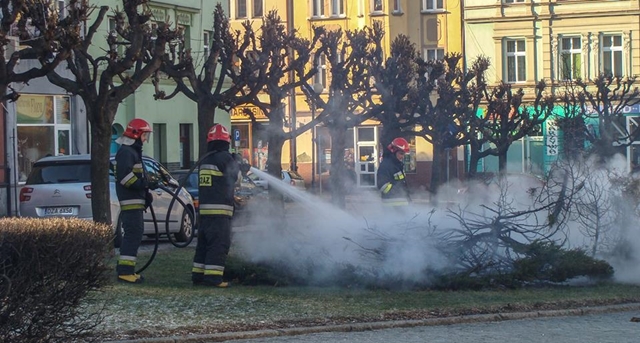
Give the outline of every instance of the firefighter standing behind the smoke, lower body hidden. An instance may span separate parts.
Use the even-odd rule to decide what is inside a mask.
[[[409,142],[396,138],[387,146],[377,172],[378,189],[383,205],[409,205],[409,188],[404,175],[404,155],[409,152]]]

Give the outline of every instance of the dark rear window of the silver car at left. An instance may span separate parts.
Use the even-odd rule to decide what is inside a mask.
[[[73,163],[36,164],[27,178],[28,185],[72,182],[91,182],[89,161],[86,163],[74,161]]]

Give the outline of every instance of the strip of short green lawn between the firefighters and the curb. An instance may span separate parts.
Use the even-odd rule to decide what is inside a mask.
[[[141,255],[139,263],[146,262],[146,258]],[[193,248],[159,252],[144,272],[144,284],[114,283],[98,294],[92,306],[106,306],[105,320],[99,327],[105,337],[154,337],[640,302],[640,287],[613,283],[456,292],[241,285],[208,289],[191,285],[192,258]],[[114,331],[119,334],[114,335]]]

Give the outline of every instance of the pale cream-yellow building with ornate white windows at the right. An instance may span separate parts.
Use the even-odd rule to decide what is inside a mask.
[[[488,80],[522,87],[529,99],[540,80],[562,91],[572,80],[601,73],[634,76],[640,72],[639,14],[638,0],[465,1],[465,57],[467,63],[489,57]],[[630,107],[625,114],[629,122],[640,110]],[[523,140],[523,171],[531,171],[530,148],[549,146],[549,137],[542,132]],[[544,151],[549,159],[549,149]]]

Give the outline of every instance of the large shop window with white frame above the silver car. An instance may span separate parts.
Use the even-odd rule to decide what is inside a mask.
[[[45,156],[72,151],[68,96],[23,94],[16,102],[18,179],[25,181],[31,166]]]

